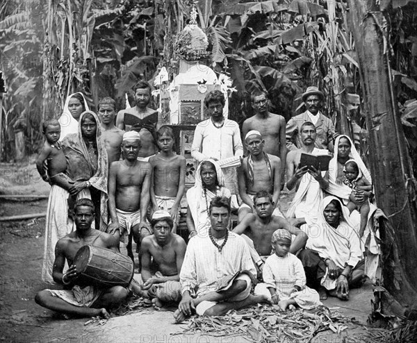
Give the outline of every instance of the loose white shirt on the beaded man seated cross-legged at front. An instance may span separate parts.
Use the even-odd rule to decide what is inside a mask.
[[[221,245],[222,240],[217,244]],[[218,290],[218,281],[225,276],[233,276],[238,271],[247,270],[256,277],[256,269],[250,258],[249,248],[242,237],[229,232],[229,237],[221,252],[211,242],[210,237],[193,237],[188,242],[186,256],[179,279],[181,294],[202,296]],[[197,290],[194,292],[195,287]]]

